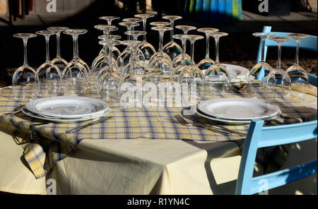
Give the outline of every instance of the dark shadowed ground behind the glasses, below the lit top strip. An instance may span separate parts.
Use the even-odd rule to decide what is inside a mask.
[[[80,56],[88,64],[91,64],[95,56],[98,55],[100,46],[98,45],[98,35],[100,32],[93,28],[94,25],[104,23],[98,20],[100,16],[115,15],[121,17],[131,17],[130,14],[122,11],[112,10],[109,12],[96,11],[90,8],[79,14],[74,13],[43,13],[27,16],[25,20],[17,20],[10,25],[6,23],[5,17],[0,16],[0,87],[11,85],[11,76],[13,71],[23,62],[22,41],[14,38],[12,35],[17,32],[36,32],[45,30],[49,26],[66,26],[69,28],[86,28],[88,33],[82,35],[79,39]],[[151,20],[160,20],[153,18]],[[117,25],[119,22],[114,22]],[[257,14],[243,11],[242,20],[236,23],[195,23],[192,20],[178,20],[177,25],[194,25],[197,28],[213,27],[220,31],[228,32],[229,36],[220,40],[220,61],[223,63],[238,64],[251,68],[255,64],[259,40],[252,36],[252,32],[261,31],[264,25],[271,25],[273,31],[284,32],[302,32],[310,35],[317,35],[317,10],[312,13],[300,12],[291,13],[290,16],[259,16]],[[141,28],[139,29],[141,30]],[[148,42],[151,42],[156,48],[158,46],[158,34],[155,31],[147,29]],[[175,33],[181,31],[175,30]],[[119,26],[115,32],[124,37],[124,28]],[[199,32],[192,32],[199,34]],[[124,37],[125,38],[125,37]],[[169,35],[165,35],[165,42],[169,41]],[[211,44],[214,42],[212,41]],[[55,38],[50,42],[51,57],[56,54]],[[119,47],[122,49],[122,47]],[[189,48],[188,48],[189,49]],[[205,41],[196,42],[195,60],[200,61],[204,58]],[[211,46],[211,56],[214,58],[214,47]],[[282,52],[283,67],[293,64],[295,59],[294,49],[283,49]],[[66,60],[71,60],[73,56],[71,37],[62,35],[61,54]],[[28,45],[29,64],[35,68],[45,61],[45,40],[43,37],[36,37],[30,40]],[[277,49],[269,50],[268,62],[272,66],[277,63]],[[300,51],[300,64],[310,73],[317,74],[317,52]]]

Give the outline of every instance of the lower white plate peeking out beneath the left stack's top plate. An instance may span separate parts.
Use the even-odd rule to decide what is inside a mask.
[[[108,111],[105,114],[96,114],[95,117],[81,117],[78,119],[59,119],[59,118],[50,118],[50,117],[45,117],[45,116],[41,116],[38,114],[34,114],[33,112],[28,111],[28,109],[23,108],[22,112],[27,115],[28,117],[33,117],[35,119],[41,119],[41,120],[45,120],[45,121],[51,121],[54,123],[61,123],[61,124],[67,124],[67,123],[74,123],[74,122],[78,122],[78,121],[89,121],[89,120],[93,120],[93,119],[98,119],[100,117],[104,117],[105,115],[107,115],[110,111]]]

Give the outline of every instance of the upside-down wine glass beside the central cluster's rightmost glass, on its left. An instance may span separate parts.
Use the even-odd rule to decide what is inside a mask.
[[[206,73],[206,70],[215,63],[215,61],[213,61],[210,58],[210,36],[208,36],[209,32],[218,32],[218,29],[216,28],[199,28],[198,29],[199,32],[204,32],[204,34],[206,35],[206,57],[204,59],[202,59],[199,64],[197,65],[198,68],[200,68],[200,70],[203,73]]]

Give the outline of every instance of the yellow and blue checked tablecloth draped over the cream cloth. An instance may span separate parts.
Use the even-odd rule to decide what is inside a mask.
[[[92,91],[88,95],[96,97]],[[216,95],[216,97],[220,95]],[[223,95],[224,97],[224,95]],[[276,95],[279,97],[279,95]],[[189,141],[237,141],[242,148],[242,136],[223,136],[213,131],[198,127],[181,126],[175,120],[175,114],[180,114],[181,108],[128,108],[122,109],[118,102],[108,102],[111,108],[109,116],[113,116],[103,123],[90,126],[82,131],[67,134],[66,131],[85,122],[72,124],[42,124],[34,126],[40,138],[30,136],[30,125],[41,124],[43,121],[26,117],[23,113],[7,116],[5,113],[26,104],[30,98],[15,100],[11,87],[0,89],[0,126],[12,136],[18,144],[23,146],[24,157],[36,179],[45,177],[55,163],[68,157],[83,139],[106,140],[125,139],[127,141],[146,138],[151,140],[189,140]],[[316,119],[317,111],[302,107],[300,102],[292,100],[288,105],[280,105],[282,112],[293,115],[302,121]],[[196,119],[196,117],[193,117]],[[275,119],[268,121],[267,125],[295,123],[293,119]],[[247,133],[249,126],[228,126],[229,129]],[[279,167],[285,160],[288,150],[273,148],[269,151],[259,152],[259,162],[269,162],[270,166]],[[282,152],[286,151],[286,152]],[[271,159],[270,159],[271,158]],[[268,165],[268,163],[267,163]]]

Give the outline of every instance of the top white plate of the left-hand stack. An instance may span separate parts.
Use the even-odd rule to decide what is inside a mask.
[[[28,102],[25,108],[34,114],[59,119],[95,117],[109,112],[106,102],[90,97],[48,97]]]

